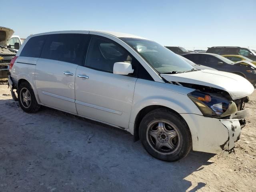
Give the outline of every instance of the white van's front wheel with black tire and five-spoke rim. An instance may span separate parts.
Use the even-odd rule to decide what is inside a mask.
[[[163,126],[160,126],[161,124]],[[164,131],[160,132],[160,130]],[[180,116],[166,108],[152,110],[142,118],[139,136],[146,151],[164,161],[180,160],[186,157],[192,148],[188,125]]]

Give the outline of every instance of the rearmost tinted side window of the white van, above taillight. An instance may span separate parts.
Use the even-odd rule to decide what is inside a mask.
[[[40,57],[42,47],[46,40],[46,35],[35,36],[28,40],[25,44],[20,56],[24,57]]]

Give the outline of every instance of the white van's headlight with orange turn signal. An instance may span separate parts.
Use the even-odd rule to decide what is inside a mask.
[[[237,112],[236,104],[224,98],[194,91],[188,97],[196,104],[204,116],[221,118]]]

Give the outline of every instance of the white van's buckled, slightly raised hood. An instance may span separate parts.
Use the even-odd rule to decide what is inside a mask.
[[[252,84],[242,76],[223,71],[200,70],[160,75],[171,82],[190,83],[224,90],[233,100],[246,97],[254,91]]]

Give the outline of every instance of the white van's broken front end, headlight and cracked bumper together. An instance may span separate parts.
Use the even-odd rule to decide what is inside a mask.
[[[240,138],[241,128],[246,124],[245,118],[250,115],[250,109],[244,109],[248,97],[232,100],[223,90],[198,88],[200,90],[188,94],[188,97],[203,116],[181,114],[190,127],[193,150],[216,154],[232,150]]]

